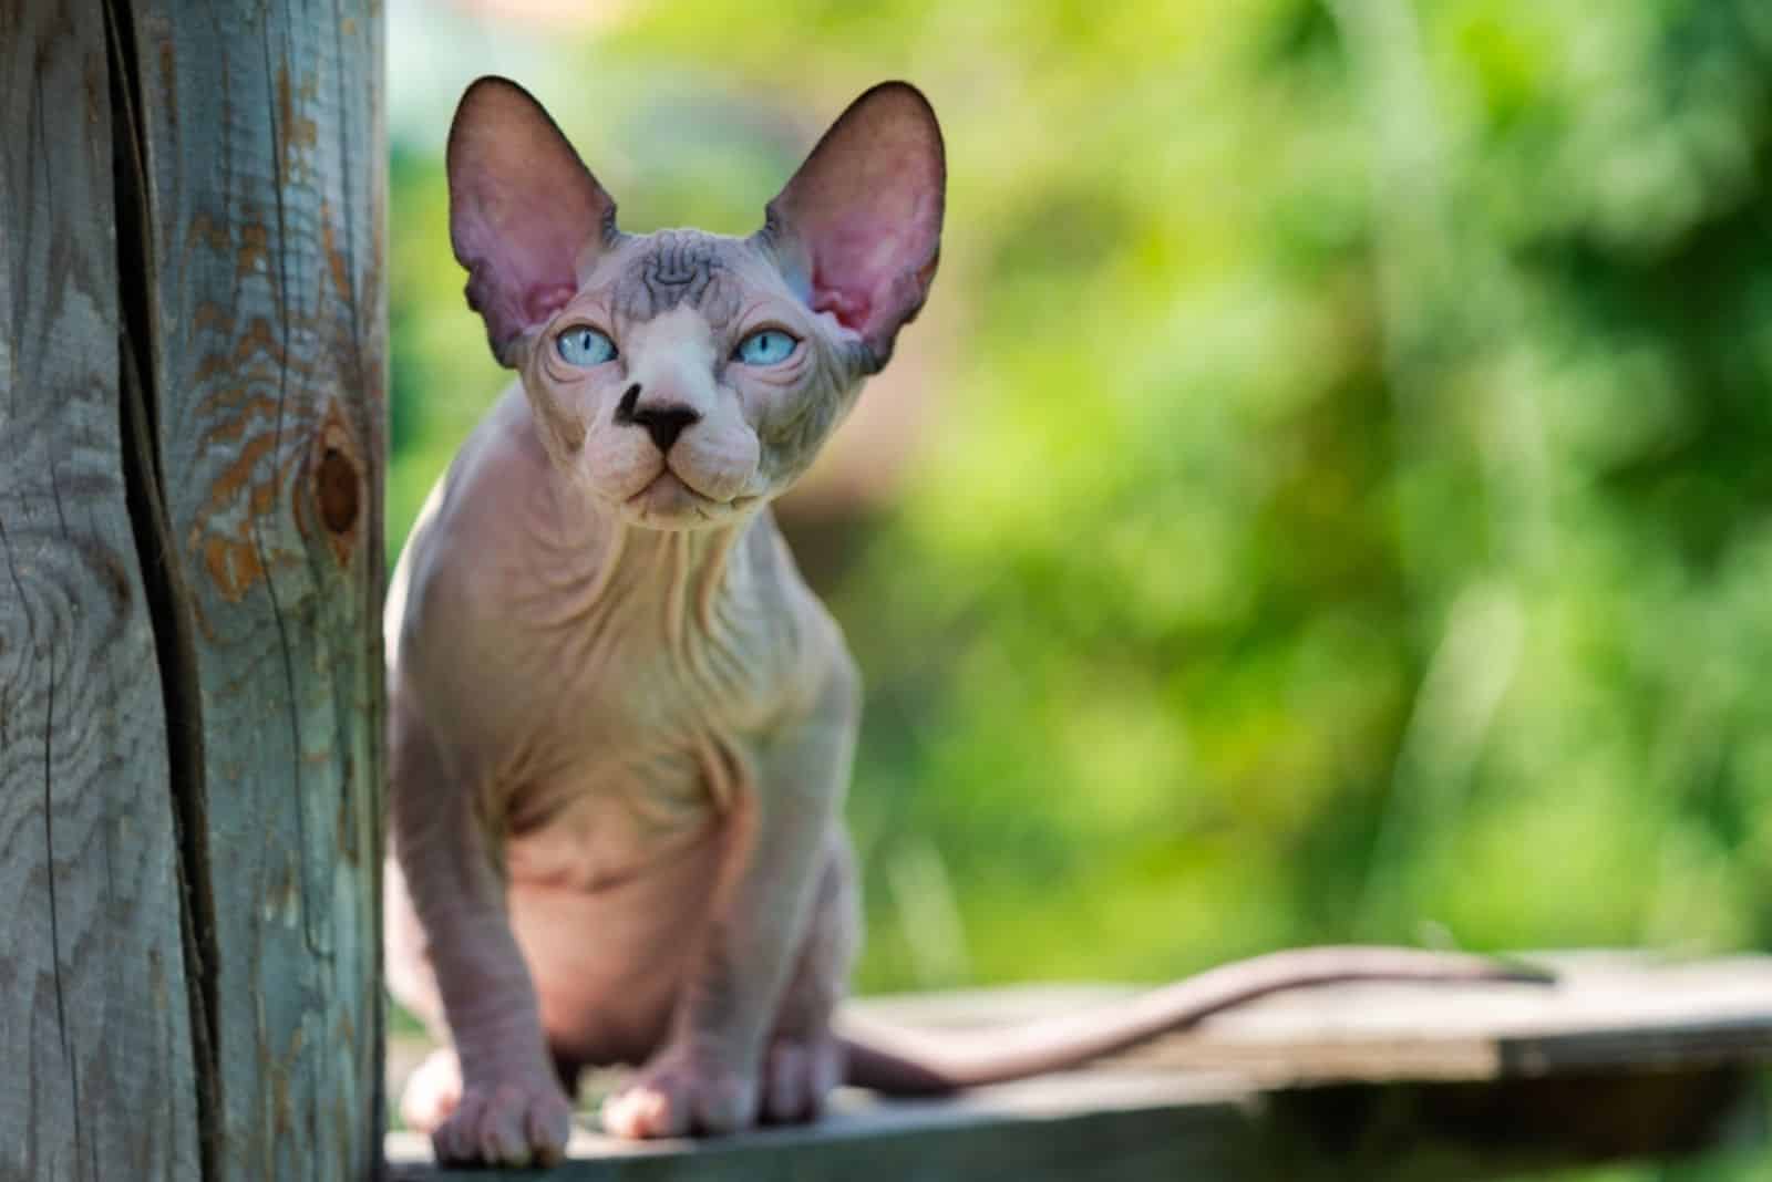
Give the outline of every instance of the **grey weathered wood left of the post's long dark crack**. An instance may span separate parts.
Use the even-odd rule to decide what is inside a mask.
[[[198,1177],[105,12],[0,5],[0,1177]]]

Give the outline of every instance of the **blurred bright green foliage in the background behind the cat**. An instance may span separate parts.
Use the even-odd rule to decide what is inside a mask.
[[[393,0],[390,46],[390,559],[507,380],[470,78],[629,230],[748,234],[867,85],[934,101],[934,296],[780,506],[868,679],[865,989],[1772,945],[1772,5]]]

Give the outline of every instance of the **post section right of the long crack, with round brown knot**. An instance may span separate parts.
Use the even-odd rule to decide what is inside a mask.
[[[223,1178],[379,1157],[381,11],[128,5]],[[211,1178],[209,1182],[214,1182]]]

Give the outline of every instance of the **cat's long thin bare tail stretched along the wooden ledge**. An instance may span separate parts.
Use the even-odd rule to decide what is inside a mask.
[[[1221,964],[1079,1014],[987,1032],[911,1032],[845,1016],[843,1081],[888,1095],[941,1095],[1008,1083],[1081,1067],[1269,993],[1363,980],[1549,986],[1556,977],[1529,964],[1458,952],[1370,945],[1292,948]]]

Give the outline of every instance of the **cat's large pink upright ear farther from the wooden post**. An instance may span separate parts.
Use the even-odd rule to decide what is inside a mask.
[[[849,104],[769,202],[760,237],[813,311],[861,336],[874,368],[936,278],[946,175],[929,99],[884,81]]]

